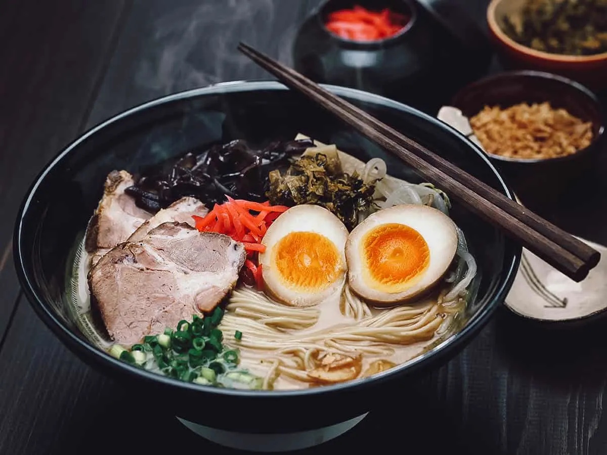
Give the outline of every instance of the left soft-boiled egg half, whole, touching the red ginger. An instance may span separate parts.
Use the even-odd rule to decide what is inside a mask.
[[[265,290],[291,306],[311,306],[345,284],[348,230],[327,209],[291,207],[268,228],[259,255]]]

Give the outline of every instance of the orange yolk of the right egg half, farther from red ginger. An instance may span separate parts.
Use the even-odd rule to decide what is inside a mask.
[[[412,227],[388,223],[364,235],[362,257],[373,288],[402,292],[428,268],[430,249],[424,237]]]

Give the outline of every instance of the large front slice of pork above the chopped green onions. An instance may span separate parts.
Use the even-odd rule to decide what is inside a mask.
[[[112,339],[132,345],[214,309],[236,285],[245,256],[227,235],[163,223],[104,255],[89,285]]]

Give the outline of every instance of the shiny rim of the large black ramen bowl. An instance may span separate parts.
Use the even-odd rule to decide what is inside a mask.
[[[427,115],[424,112],[413,109],[412,107],[406,106],[405,104],[398,103],[397,101],[393,101],[392,99],[385,98],[384,96],[376,95],[374,93],[364,92],[363,90],[351,89],[349,87],[341,87],[341,86],[332,86],[328,84],[322,84],[325,89],[330,90],[335,93],[337,96],[345,96],[356,99],[357,101],[362,101],[366,103],[372,103],[376,105],[381,105],[382,107],[387,107],[388,109],[395,109],[401,112],[409,112],[415,113],[415,115],[420,116],[424,120],[429,121],[430,123],[436,124],[437,126],[447,129],[456,136],[458,136],[461,140],[466,142],[471,150],[476,152],[476,154],[484,161],[485,165],[493,172],[493,175],[497,178],[501,185],[501,190],[503,190],[504,195],[514,200],[514,193],[510,189],[510,187],[506,184],[500,172],[493,166],[493,164],[489,161],[486,154],[482,152],[482,150],[476,146],[472,141],[466,138],[466,136],[462,135],[458,132],[458,130],[450,127],[447,124],[437,120],[436,118]],[[216,388],[216,387],[208,387],[197,385],[195,383],[183,382],[178,379],[172,379],[170,377],[161,376],[157,373],[146,371],[136,366],[130,365],[126,362],[122,362],[121,360],[115,359],[115,357],[110,356],[109,353],[103,351],[103,349],[94,346],[92,343],[87,342],[84,339],[81,339],[78,335],[76,335],[70,328],[66,325],[66,323],[61,320],[61,318],[57,317],[54,312],[50,311],[49,306],[44,303],[44,298],[39,292],[38,286],[33,282],[30,277],[27,276],[25,272],[25,262],[27,258],[24,255],[24,251],[22,251],[22,244],[26,241],[23,237],[22,228],[24,223],[24,217],[27,211],[29,210],[29,206],[35,202],[35,195],[38,187],[46,178],[47,174],[49,174],[55,166],[57,166],[63,158],[75,150],[81,143],[88,140],[90,136],[95,135],[99,130],[109,126],[110,124],[121,121],[123,118],[136,115],[138,112],[149,109],[154,106],[159,106],[164,103],[169,103],[171,101],[178,101],[183,99],[192,99],[197,96],[204,95],[221,95],[222,93],[237,93],[237,92],[260,92],[262,90],[289,90],[288,87],[279,83],[278,81],[229,81],[225,83],[217,83],[211,84],[209,86],[186,90],[184,92],[174,93],[172,95],[163,96],[161,98],[153,99],[152,101],[148,101],[146,103],[140,104],[138,106],[132,107],[131,109],[127,109],[123,112],[118,113],[110,117],[109,119],[102,121],[97,126],[92,127],[87,132],[84,132],[76,140],[72,141],[69,145],[64,147],[61,152],[56,155],[55,158],[50,160],[50,162],[44,167],[44,169],[38,174],[38,176],[33,181],[29,190],[25,194],[24,200],[22,201],[21,207],[19,209],[18,216],[16,218],[15,230],[13,232],[13,257],[15,262],[16,272],[19,278],[19,282],[21,283],[22,290],[24,291],[27,300],[30,302],[30,305],[35,310],[38,317],[42,319],[42,321],[46,324],[46,326],[64,343],[70,350],[75,352],[76,354],[80,354],[82,359],[86,359],[87,363],[95,363],[97,366],[103,365],[107,367],[107,372],[104,374],[108,374],[109,371],[114,371],[117,376],[129,374],[131,377],[137,377],[138,380],[142,380],[145,383],[150,385],[162,385],[164,388],[170,388],[173,391],[188,391],[190,393],[208,393],[213,394],[214,396],[226,396],[226,397],[246,397],[247,399],[279,399],[279,398],[295,398],[295,397],[307,397],[307,396],[320,396],[331,393],[338,393],[340,391],[348,391],[348,393],[353,393],[354,391],[359,391],[361,389],[368,389],[371,386],[375,387],[382,383],[386,383],[389,381],[393,381],[398,379],[399,377],[407,376],[408,374],[412,374],[415,371],[418,371],[422,366],[429,365],[433,361],[436,361],[439,358],[444,358],[449,352],[453,352],[458,348],[462,348],[463,345],[469,342],[473,335],[478,333],[483,326],[489,322],[490,316],[495,312],[495,310],[500,306],[500,303],[504,301],[507,293],[509,292],[512,283],[514,282],[514,278],[517,274],[518,266],[521,258],[522,247],[519,244],[512,244],[514,248],[511,248],[510,258],[507,255],[504,255],[504,269],[501,272],[503,278],[497,280],[497,283],[493,286],[492,294],[493,296],[488,299],[488,302],[484,308],[481,308],[472,321],[466,325],[461,331],[453,334],[451,337],[443,340],[443,342],[439,343],[432,349],[423,354],[410,359],[407,362],[402,363],[401,365],[395,366],[394,368],[388,369],[387,371],[376,374],[373,377],[362,378],[362,379],[354,379],[344,383],[338,383],[334,385],[325,385],[322,387],[314,387],[307,389],[287,389],[287,390],[243,390],[243,389],[229,389],[229,388]],[[504,236],[504,241],[509,241]]]

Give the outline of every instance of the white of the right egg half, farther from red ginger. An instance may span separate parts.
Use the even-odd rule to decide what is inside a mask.
[[[373,280],[365,269],[361,242],[365,234],[382,224],[397,223],[412,227],[424,238],[430,251],[430,261],[410,288],[401,292],[387,292],[373,287]],[[443,277],[457,250],[455,223],[443,212],[428,206],[405,204],[383,209],[370,215],[350,233],[345,246],[348,283],[360,297],[376,306],[404,303],[429,291]]]

